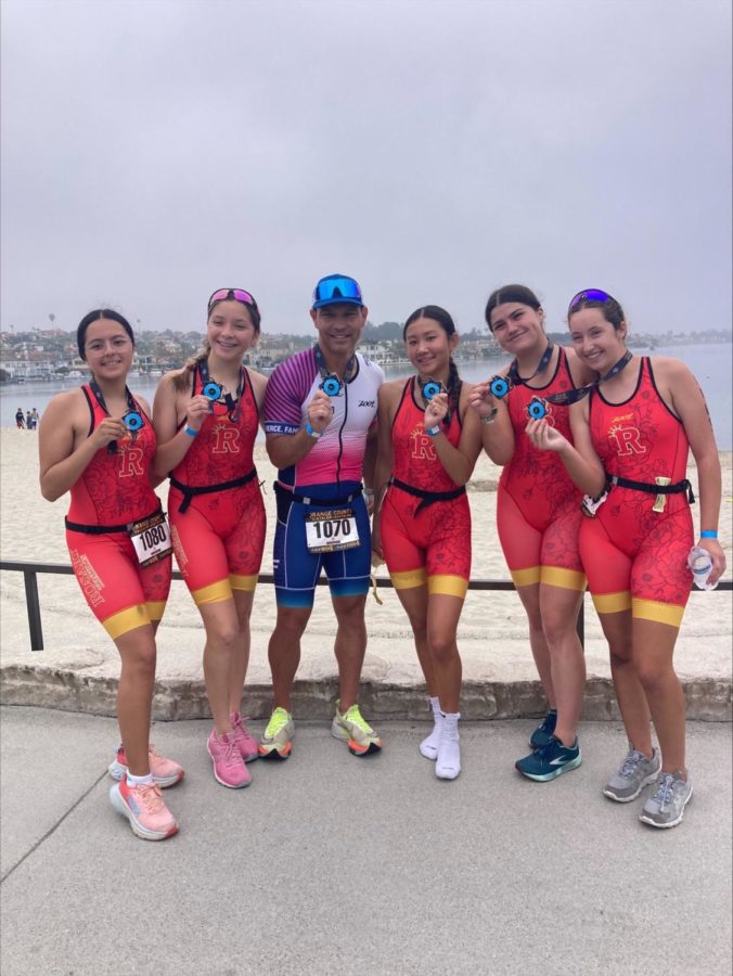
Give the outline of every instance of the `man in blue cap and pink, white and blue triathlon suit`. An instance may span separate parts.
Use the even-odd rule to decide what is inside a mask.
[[[318,343],[277,367],[265,397],[267,450],[279,468],[273,552],[278,619],[269,644],[274,707],[259,744],[266,759],[286,759],[291,753],[292,686],[321,569],[336,615],[339,698],[332,734],[355,756],[382,748],[358,697],[372,551],[361,479],[369,486],[373,477],[374,421],[384,374],[356,351],[366,307],[352,278],[322,278],[310,316]]]

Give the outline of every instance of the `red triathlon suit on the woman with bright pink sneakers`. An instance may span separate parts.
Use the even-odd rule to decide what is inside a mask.
[[[246,369],[241,376],[231,415],[232,402],[215,402],[170,476],[173,552],[196,606],[254,591],[262,562],[265,505],[253,461],[259,411]],[[204,385],[196,368],[191,396]]]

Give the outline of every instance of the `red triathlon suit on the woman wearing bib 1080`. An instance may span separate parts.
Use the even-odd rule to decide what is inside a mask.
[[[89,403],[89,434],[107,416],[91,387],[81,391]],[[150,484],[155,457],[155,431],[143,418],[136,434],[116,444],[114,453],[101,448],[72,486],[66,516],[66,544],[72,566],[91,612],[113,640],[136,627],[157,621],[170,590],[170,555],[141,566],[127,526],[160,510]],[[108,529],[104,531],[104,529]]]

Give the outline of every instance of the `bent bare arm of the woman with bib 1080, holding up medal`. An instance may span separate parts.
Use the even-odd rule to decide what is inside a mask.
[[[119,418],[106,416],[86,437],[89,413],[83,395],[74,390],[54,397],[38,428],[41,495],[56,501],[75,485],[101,448],[119,440],[127,428]]]

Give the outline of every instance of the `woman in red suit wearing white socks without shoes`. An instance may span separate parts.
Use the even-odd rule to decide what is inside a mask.
[[[459,336],[436,305],[414,311],[402,331],[416,375],[380,389],[372,548],[385,560],[415,639],[433,710],[420,744],[435,774],[461,772],[458,731],[461,657],[456,633],[471,576],[471,510],[465,485],[481,449],[452,352]]]

